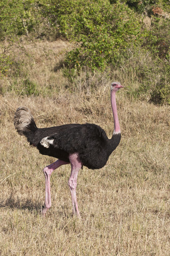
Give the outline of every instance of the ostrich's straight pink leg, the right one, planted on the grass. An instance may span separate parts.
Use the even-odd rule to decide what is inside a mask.
[[[76,187],[77,187],[77,175],[82,167],[82,163],[80,162],[78,153],[74,153],[69,155],[69,160],[71,164],[71,175],[68,181],[68,186],[71,192],[71,199],[72,199],[72,213],[73,215],[77,215],[80,218],[80,214],[78,211],[78,204],[76,198]]]

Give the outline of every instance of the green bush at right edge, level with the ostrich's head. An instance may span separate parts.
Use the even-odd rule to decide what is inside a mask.
[[[158,57],[152,63],[150,61],[136,65],[134,71],[140,86],[133,93],[137,97],[147,96],[147,99],[155,104],[170,105],[170,63]]]

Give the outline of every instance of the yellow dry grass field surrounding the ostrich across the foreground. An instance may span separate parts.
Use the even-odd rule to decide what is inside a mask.
[[[36,70],[35,65],[34,74]],[[72,218],[69,165],[53,172],[52,207],[42,219],[42,170],[55,159],[40,155],[17,134],[15,110],[28,107],[38,127],[95,123],[109,138],[114,129],[111,81],[103,81],[92,91],[84,92],[82,86],[71,93],[61,86],[66,78],[49,70],[46,66],[46,81],[49,76],[58,77],[60,84],[55,94],[0,96],[0,255],[169,256],[170,108],[129,99],[125,90],[117,93],[120,145],[101,170],[83,167],[78,174],[82,220]],[[39,71],[39,79],[42,74]],[[38,81],[38,74],[34,78]]]

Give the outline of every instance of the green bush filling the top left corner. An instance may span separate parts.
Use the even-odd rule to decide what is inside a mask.
[[[39,2],[36,0],[1,0],[0,40],[27,35],[38,25]]]

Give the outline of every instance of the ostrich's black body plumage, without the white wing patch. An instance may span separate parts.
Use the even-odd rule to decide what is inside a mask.
[[[20,108],[22,116],[26,108]],[[27,109],[27,114],[28,113]],[[112,151],[119,145],[120,133],[112,135],[108,139],[106,132],[95,124],[66,124],[39,129],[30,114],[29,123],[22,127],[20,131],[21,118],[19,113],[15,113],[15,129],[27,137],[30,145],[37,147],[39,153],[52,156],[62,161],[69,162],[69,154],[79,153],[80,161],[89,169],[100,169],[108,161]],[[23,125],[22,125],[23,126]],[[53,145],[45,148],[41,145],[41,140],[48,137],[54,140]]]

